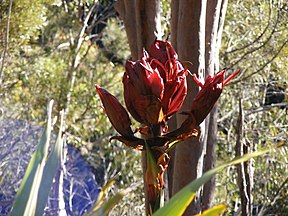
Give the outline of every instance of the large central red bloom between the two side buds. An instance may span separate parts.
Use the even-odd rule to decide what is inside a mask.
[[[165,123],[183,104],[186,75],[172,46],[156,40],[150,56],[144,50],[141,60],[126,63],[123,84],[128,111],[146,125]]]

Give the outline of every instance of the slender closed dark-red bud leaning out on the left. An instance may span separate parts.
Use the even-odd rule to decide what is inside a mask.
[[[108,91],[96,85],[96,90],[100,96],[105,112],[113,127],[125,138],[133,139],[131,121],[125,108]]]

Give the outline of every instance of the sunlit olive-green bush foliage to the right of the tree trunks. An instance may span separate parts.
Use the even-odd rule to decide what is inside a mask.
[[[288,77],[285,68],[288,66],[288,44],[284,36],[288,33],[287,17],[287,3],[281,1],[229,2],[220,56],[222,64],[228,68],[237,65],[242,76],[234,82],[237,85],[232,82],[230,89],[226,89],[219,104],[217,155],[222,160],[235,154],[238,116],[235,95],[243,99],[245,145],[253,150],[287,142]],[[280,100],[271,103],[269,94],[280,96]],[[256,213],[287,211],[284,195],[287,194],[287,181],[283,178],[288,168],[287,155],[286,147],[253,161]],[[239,191],[235,179],[236,170],[230,168],[219,176],[216,188],[217,200],[225,200],[230,209],[237,210]]]

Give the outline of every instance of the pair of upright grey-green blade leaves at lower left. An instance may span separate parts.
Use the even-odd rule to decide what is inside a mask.
[[[52,130],[52,106],[53,101],[49,103],[47,126],[28,164],[11,215],[42,215],[44,213],[53,178],[62,161],[64,145],[62,113],[57,141],[48,154]]]

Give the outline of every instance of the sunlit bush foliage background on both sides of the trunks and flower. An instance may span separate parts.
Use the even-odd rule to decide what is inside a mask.
[[[10,0],[1,1],[0,6],[0,118],[43,125],[47,103],[54,99],[55,113],[66,112],[68,143],[95,167],[98,184],[117,179],[111,193],[142,181],[141,154],[109,142],[115,131],[94,88],[97,83],[122,95],[124,64],[131,58],[114,3]],[[160,8],[166,39],[169,1],[161,1]],[[242,73],[218,102],[217,164],[235,156],[240,99],[246,145],[257,150],[287,142],[287,23],[284,1],[233,0],[228,4],[220,67]],[[287,212],[287,151],[282,148],[253,160],[255,214]],[[115,214],[142,215],[142,193],[138,186],[114,209]],[[225,202],[230,213],[236,212],[240,193],[236,168],[217,176],[214,203]]]

